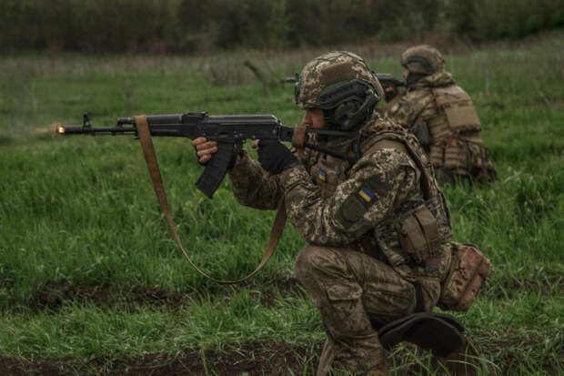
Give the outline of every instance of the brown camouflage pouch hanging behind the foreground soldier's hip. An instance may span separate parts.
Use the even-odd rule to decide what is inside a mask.
[[[438,300],[443,310],[468,310],[488,276],[489,260],[472,244],[451,243],[452,262]]]

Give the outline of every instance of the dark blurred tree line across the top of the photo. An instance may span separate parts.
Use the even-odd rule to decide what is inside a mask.
[[[564,26],[562,0],[3,0],[0,51],[207,53]]]

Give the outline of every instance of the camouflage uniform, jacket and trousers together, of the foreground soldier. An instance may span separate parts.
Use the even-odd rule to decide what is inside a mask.
[[[359,130],[361,158],[354,164],[305,149],[296,153],[300,164],[278,175],[267,174],[247,155],[229,172],[237,201],[274,209],[285,199],[288,218],[307,240],[295,273],[327,331],[318,375],[330,362],[358,373],[384,364],[378,328],[432,310],[450,262],[448,209],[417,139],[376,112]],[[337,137],[307,142],[351,156],[357,145]],[[413,218],[421,208],[438,218],[438,238],[431,254],[416,261],[401,243],[402,218]]]

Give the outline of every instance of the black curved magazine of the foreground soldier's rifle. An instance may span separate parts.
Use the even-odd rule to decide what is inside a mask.
[[[227,174],[227,169],[233,158],[233,143],[217,142],[217,152],[207,162],[202,175],[196,181],[196,188],[201,190],[208,198],[212,198],[217,188]]]

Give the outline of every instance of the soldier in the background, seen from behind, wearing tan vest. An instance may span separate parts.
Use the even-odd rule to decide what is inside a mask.
[[[384,112],[418,137],[440,182],[493,181],[497,172],[479,135],[476,108],[444,62],[431,46],[408,48],[401,56],[407,89]]]

